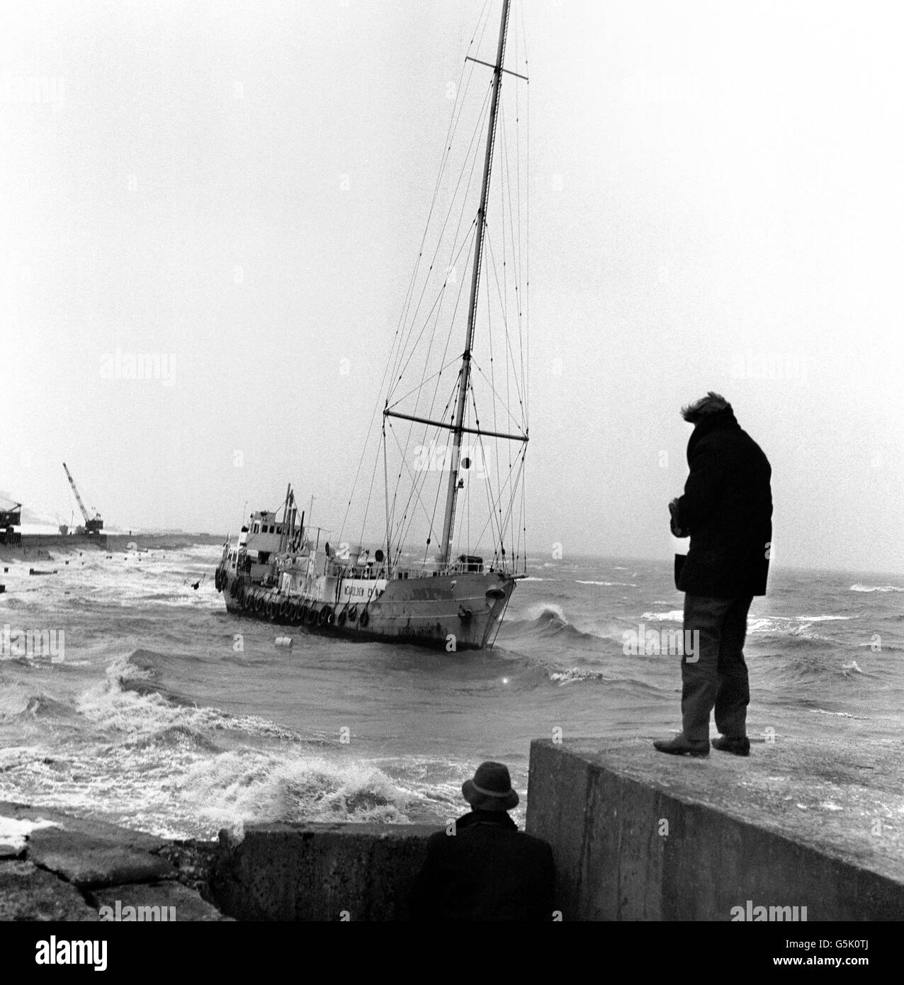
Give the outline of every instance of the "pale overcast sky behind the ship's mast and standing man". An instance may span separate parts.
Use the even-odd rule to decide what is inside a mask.
[[[234,533],[292,481],[338,524],[483,6],[0,8],[0,490],[68,521],[66,461],[107,526]],[[669,560],[712,389],[777,564],[904,570],[894,5],[523,19],[529,547]]]

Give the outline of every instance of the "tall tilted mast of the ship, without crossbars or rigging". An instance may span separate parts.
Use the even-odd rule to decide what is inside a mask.
[[[484,185],[481,189],[481,206],[477,216],[477,241],[474,250],[474,268],[471,274],[471,301],[468,306],[468,331],[465,336],[465,352],[459,370],[458,404],[455,408],[455,423],[452,426],[452,467],[449,470],[449,485],[446,488],[446,512],[442,524],[442,545],[440,563],[445,567],[452,553],[452,535],[455,529],[455,502],[458,498],[458,473],[465,433],[465,404],[468,399],[468,386],[471,380],[471,350],[474,345],[474,322],[477,316],[478,288],[481,281],[481,263],[484,257],[484,232],[486,230],[486,199],[489,193],[489,172],[492,166],[492,149],[496,136],[496,116],[499,110],[499,89],[502,85],[502,59],[505,56],[505,34],[508,31],[508,8],[510,0],[502,0],[502,21],[499,25],[499,46],[496,49],[496,64],[492,66],[492,99],[489,106],[489,123],[486,131],[486,157],[484,159]],[[475,59],[476,60],[476,59]]]

